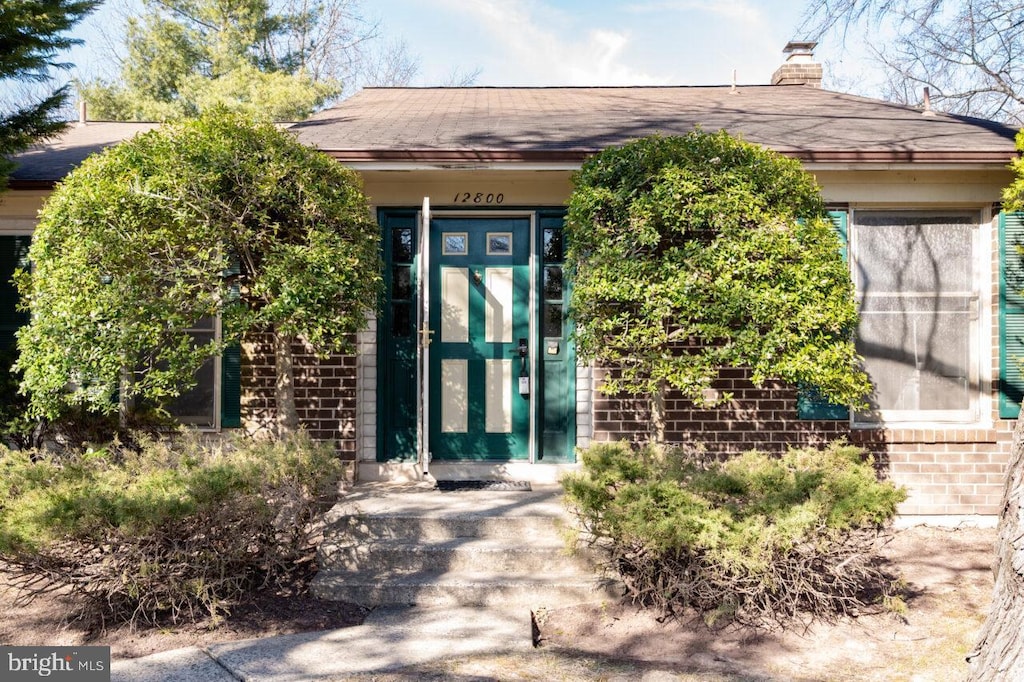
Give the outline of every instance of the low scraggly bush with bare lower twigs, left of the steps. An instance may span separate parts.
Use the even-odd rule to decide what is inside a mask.
[[[0,449],[0,559],[115,621],[217,616],[308,570],[341,462],[328,444],[139,438],[60,456]]]

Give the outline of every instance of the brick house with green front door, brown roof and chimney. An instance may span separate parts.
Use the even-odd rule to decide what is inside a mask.
[[[1015,130],[822,90],[798,54],[773,85],[372,88],[291,126],[356,169],[381,226],[387,292],[354,356],[300,356],[300,417],[362,479],[555,479],[596,441],[643,440],[645,401],[606,395],[566,316],[564,203],[590,155],[649,134],[725,129],[799,159],[846,243],[858,347],[877,387],[851,414],[721,372],[732,398],[667,400],[668,439],[714,455],[839,437],[906,485],[904,516],[998,513],[1024,381],[1024,221],[999,210]],[[17,158],[0,203],[0,268],[86,154],[152,124],[81,123]],[[6,280],[6,273],[2,273]],[[0,341],[18,324],[0,289]],[[3,327],[6,326],[6,327]],[[215,333],[211,331],[210,333]],[[209,428],[263,428],[268,346],[251,339],[181,401]],[[187,414],[188,411],[195,414]]]

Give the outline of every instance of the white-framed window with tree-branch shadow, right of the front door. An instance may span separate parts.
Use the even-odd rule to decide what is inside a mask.
[[[855,211],[857,350],[874,392],[860,423],[970,422],[979,399],[971,211]]]

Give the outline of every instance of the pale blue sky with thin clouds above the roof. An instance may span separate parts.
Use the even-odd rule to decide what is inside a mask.
[[[102,29],[111,0],[75,35],[72,76],[110,75]],[[389,40],[419,62],[412,85],[478,72],[474,85],[767,84],[782,62],[807,0],[361,0]],[[819,61],[836,73],[827,46]]]

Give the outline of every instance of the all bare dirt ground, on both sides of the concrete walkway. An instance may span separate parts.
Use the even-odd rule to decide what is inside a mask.
[[[630,605],[593,604],[538,614],[541,646],[534,655],[452,660],[443,670],[377,679],[631,679],[656,671],[683,680],[963,680],[964,656],[991,599],[994,541],[994,529],[896,534],[884,555],[907,583],[902,616],[863,614],[781,634],[711,632],[694,622],[663,623]],[[366,615],[350,604],[260,594],[219,624],[103,630],[77,619],[67,599],[47,595],[26,604],[16,597],[9,587],[0,592],[0,643],[104,645],[115,658],[342,628]]]

